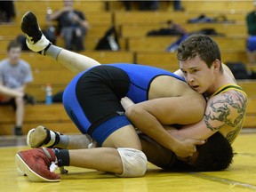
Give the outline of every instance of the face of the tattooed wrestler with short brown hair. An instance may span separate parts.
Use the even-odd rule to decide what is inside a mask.
[[[215,89],[216,71],[214,63],[211,68],[208,68],[204,60],[201,60],[197,55],[195,58],[180,61],[180,70],[183,72],[186,82],[196,92],[212,92]]]

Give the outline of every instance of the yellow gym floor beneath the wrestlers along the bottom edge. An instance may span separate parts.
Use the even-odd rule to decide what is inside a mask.
[[[117,178],[111,173],[66,167],[68,174],[61,175],[60,182],[36,183],[26,176],[18,176],[16,171],[14,156],[28,149],[26,137],[0,136],[0,188],[7,192],[256,191],[255,140],[256,129],[244,129],[233,144],[236,153],[233,164],[222,172],[163,172],[148,164],[144,177]]]

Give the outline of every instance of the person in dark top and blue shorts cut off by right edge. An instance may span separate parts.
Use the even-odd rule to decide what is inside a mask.
[[[246,25],[247,25],[247,55],[249,62],[256,62],[256,2],[254,4],[254,9],[252,12],[248,12],[246,15]]]

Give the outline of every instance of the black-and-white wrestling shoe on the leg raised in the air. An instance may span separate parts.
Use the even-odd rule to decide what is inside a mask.
[[[38,26],[36,15],[33,12],[26,12],[22,19],[20,28],[26,35],[26,44],[33,52],[45,54],[45,51],[51,45],[51,42],[44,36],[40,27]]]

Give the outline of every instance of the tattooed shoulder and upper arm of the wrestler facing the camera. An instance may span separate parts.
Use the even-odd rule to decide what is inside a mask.
[[[243,127],[246,106],[247,97],[243,92],[229,90],[215,95],[207,102],[204,123],[232,143]]]

